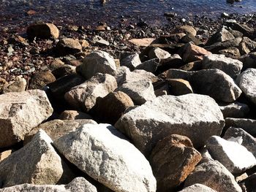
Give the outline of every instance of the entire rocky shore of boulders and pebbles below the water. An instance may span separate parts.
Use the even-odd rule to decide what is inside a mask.
[[[254,191],[256,15],[35,23],[0,37],[1,191]]]

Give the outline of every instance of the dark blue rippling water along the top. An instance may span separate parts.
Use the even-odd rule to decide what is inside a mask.
[[[256,0],[242,0],[227,4],[226,0],[0,0],[0,27],[27,24],[36,20],[74,22],[95,25],[98,21],[116,23],[121,16],[131,20],[143,18],[148,23],[165,22],[165,12],[176,12],[181,17],[191,15],[219,16],[222,12],[256,12]],[[26,15],[30,9],[37,13]]]

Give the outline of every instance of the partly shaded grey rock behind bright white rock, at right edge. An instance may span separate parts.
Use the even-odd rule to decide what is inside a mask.
[[[227,140],[238,140],[241,142],[241,145],[246,147],[246,149],[256,157],[256,139],[242,128],[228,128],[223,138]]]

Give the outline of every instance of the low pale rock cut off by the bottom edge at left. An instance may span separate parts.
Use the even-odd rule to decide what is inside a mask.
[[[97,192],[97,188],[91,185],[85,178],[76,177],[72,182],[67,185],[31,185],[22,184],[15,185],[10,188],[2,188],[0,192],[42,192],[42,191],[54,191],[54,192]]]

